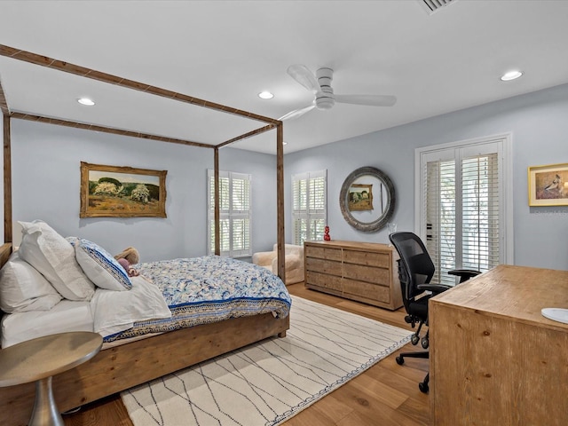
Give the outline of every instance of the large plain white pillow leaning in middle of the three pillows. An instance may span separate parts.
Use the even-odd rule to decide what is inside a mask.
[[[95,286],[75,259],[75,249],[42,220],[18,222],[22,227],[20,257],[69,300],[91,300]]]

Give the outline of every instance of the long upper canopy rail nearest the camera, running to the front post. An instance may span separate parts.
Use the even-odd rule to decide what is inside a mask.
[[[183,93],[178,93],[176,91],[169,91],[167,89],[161,89],[159,87],[155,87],[145,83],[135,82],[133,80],[122,78],[116,75],[102,73],[100,71],[96,71],[91,68],[70,64],[63,60],[52,59],[47,56],[38,55],[31,51],[21,51],[20,49],[15,49],[13,47],[6,46],[4,44],[0,44],[0,56],[22,60],[24,62],[39,65],[41,67],[57,69],[59,71],[63,71],[65,73],[73,75],[80,75],[82,77],[91,78],[92,80],[97,80],[103,83],[114,84],[124,88],[132,89],[134,91],[143,91],[145,93],[151,93],[156,96],[161,96],[162,98],[173,99],[179,102],[185,102],[187,104],[192,104],[197,106],[203,106],[227,114],[241,115],[242,117],[246,117],[251,120],[268,122],[274,125],[278,124],[278,120],[270,117],[264,117],[263,115],[249,113],[247,111],[242,111],[241,109],[217,104],[215,102],[209,102],[209,100],[193,98],[193,96],[185,95]]]

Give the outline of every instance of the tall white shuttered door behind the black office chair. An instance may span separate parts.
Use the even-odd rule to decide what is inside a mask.
[[[432,282],[455,284],[448,271],[488,271],[512,260],[508,135],[416,150],[416,221],[436,266]]]

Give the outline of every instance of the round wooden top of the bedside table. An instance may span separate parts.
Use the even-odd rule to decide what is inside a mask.
[[[0,351],[0,387],[57,375],[94,357],[102,346],[98,333],[78,331],[44,335]]]

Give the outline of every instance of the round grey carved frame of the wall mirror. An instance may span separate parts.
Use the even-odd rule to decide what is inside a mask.
[[[387,193],[387,203],[386,207],[383,209],[383,214],[380,217],[377,217],[373,222],[361,222],[353,217],[349,210],[349,200],[347,196],[349,188],[359,177],[364,176],[375,177],[382,181]],[[370,166],[361,167],[353,171],[348,177],[345,177],[341,187],[341,193],[339,193],[339,207],[341,208],[343,218],[349,225],[365,233],[374,233],[383,228],[383,226],[389,222],[390,217],[392,217],[392,214],[394,213],[395,202],[396,197],[394,193],[394,185],[392,185],[390,178],[384,174],[382,170],[378,170],[375,167]]]

